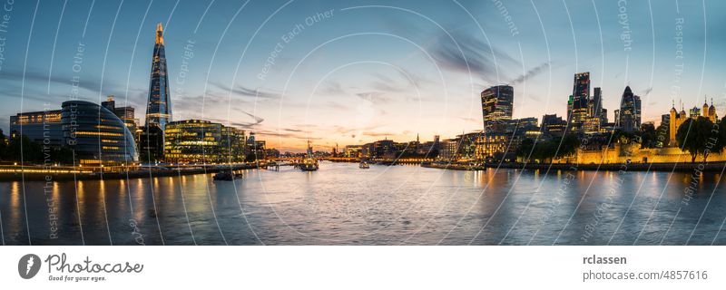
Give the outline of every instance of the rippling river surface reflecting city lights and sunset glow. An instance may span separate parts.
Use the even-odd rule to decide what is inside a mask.
[[[315,172],[248,170],[233,182],[211,174],[54,182],[47,197],[44,182],[26,182],[28,215],[24,185],[3,182],[0,221],[9,245],[723,245],[723,182],[325,162]]]

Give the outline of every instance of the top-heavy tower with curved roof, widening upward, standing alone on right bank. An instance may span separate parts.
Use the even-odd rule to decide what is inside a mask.
[[[490,87],[481,93],[484,131],[504,131],[512,120],[515,102],[514,88],[509,85]]]

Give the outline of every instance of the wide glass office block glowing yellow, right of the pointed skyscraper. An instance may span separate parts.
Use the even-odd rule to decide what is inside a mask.
[[[245,133],[203,120],[171,121],[164,132],[164,159],[175,163],[245,160]]]

